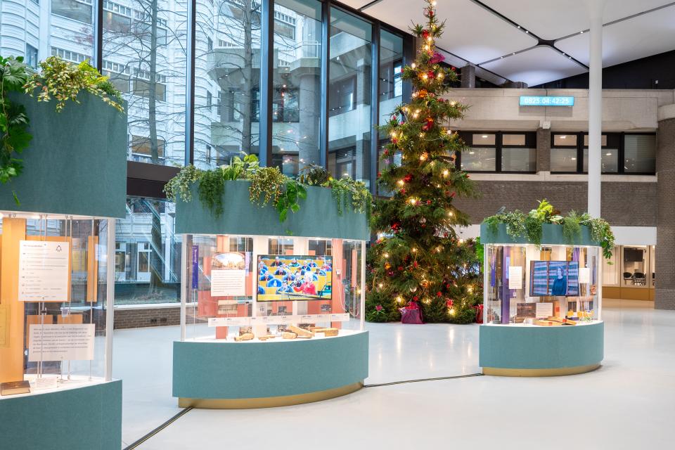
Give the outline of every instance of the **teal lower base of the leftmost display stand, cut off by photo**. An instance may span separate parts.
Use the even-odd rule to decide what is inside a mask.
[[[0,397],[0,449],[120,450],[122,381]]]

